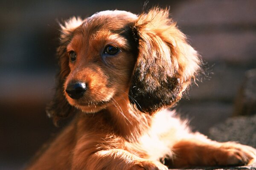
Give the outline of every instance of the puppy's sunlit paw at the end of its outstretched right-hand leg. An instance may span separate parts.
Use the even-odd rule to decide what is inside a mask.
[[[214,153],[216,165],[247,165],[256,161],[256,149],[250,146],[226,142]]]

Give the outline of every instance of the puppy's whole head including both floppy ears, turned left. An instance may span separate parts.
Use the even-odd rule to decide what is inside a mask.
[[[152,114],[177,102],[200,70],[197,52],[167,9],[72,18],[61,26],[60,39],[56,94],[47,108],[55,119],[125,99]]]

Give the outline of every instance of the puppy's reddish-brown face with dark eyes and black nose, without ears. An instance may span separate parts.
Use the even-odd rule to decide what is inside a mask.
[[[70,71],[63,91],[70,105],[95,113],[125,99],[136,56],[131,30],[135,18],[128,12],[105,11],[73,31],[66,48]]]

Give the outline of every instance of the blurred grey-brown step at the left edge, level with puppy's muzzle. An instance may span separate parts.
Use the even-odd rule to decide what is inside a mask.
[[[55,89],[55,73],[44,72],[11,72],[0,73],[0,102],[3,104],[20,102],[49,101]]]

